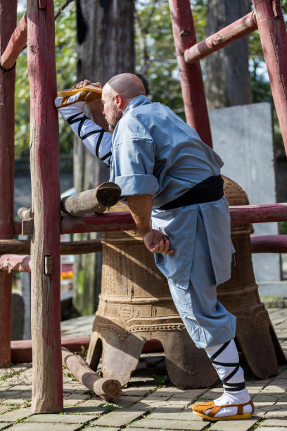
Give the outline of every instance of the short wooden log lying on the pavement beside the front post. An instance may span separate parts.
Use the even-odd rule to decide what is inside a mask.
[[[83,358],[79,355],[74,355],[70,350],[62,347],[62,363],[68,368],[76,379],[86,386],[91,392],[100,396],[105,401],[110,401],[122,394],[122,387],[118,380],[103,379],[97,375]]]

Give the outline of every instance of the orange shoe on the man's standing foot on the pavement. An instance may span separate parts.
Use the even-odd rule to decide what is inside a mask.
[[[251,413],[243,413],[243,407],[244,406],[252,406],[252,412]],[[231,416],[221,416],[216,417],[215,415],[222,409],[222,408],[229,408],[229,407],[237,407],[237,413],[236,415]],[[211,410],[205,414],[207,410]],[[209,420],[231,420],[231,419],[248,419],[251,418],[251,416],[254,413],[254,404],[250,400],[248,403],[245,404],[224,404],[224,406],[216,406],[213,401],[208,401],[205,403],[198,403],[194,404],[192,406],[193,413],[197,416],[201,416],[201,418],[209,419]]]

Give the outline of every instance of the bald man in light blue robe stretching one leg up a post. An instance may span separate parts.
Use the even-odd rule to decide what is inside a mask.
[[[84,80],[75,87],[89,83]],[[236,318],[217,301],[216,293],[217,285],[231,276],[234,251],[221,158],[169,108],[148,100],[136,75],[116,75],[103,87],[104,118],[98,102],[88,103],[94,121],[103,125],[105,144],[98,144],[98,132],[90,134],[88,128],[84,144],[94,139],[90,147],[99,152],[103,145],[100,153],[110,154],[104,156],[110,181],[121,187],[139,235],[167,277],[186,330],[196,346],[205,349],[222,380],[224,394],[194,405],[193,412],[211,420],[250,418],[254,406],[238,363]],[[90,122],[89,127],[98,130],[84,119],[82,107],[72,120],[65,109],[60,113],[70,125]],[[104,131],[107,127],[110,135]]]

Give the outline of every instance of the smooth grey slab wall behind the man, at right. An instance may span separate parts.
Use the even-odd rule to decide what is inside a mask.
[[[238,182],[250,204],[276,202],[272,106],[268,102],[210,111],[215,151],[222,173]],[[255,235],[276,235],[277,223],[254,225]],[[253,254],[255,278],[264,296],[286,296],[279,254]]]

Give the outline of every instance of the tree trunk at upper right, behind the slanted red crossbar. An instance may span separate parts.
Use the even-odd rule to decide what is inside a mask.
[[[248,0],[209,0],[207,34],[225,27],[250,12]],[[208,56],[205,84],[208,108],[223,108],[252,102],[248,70],[248,39],[238,41]]]

